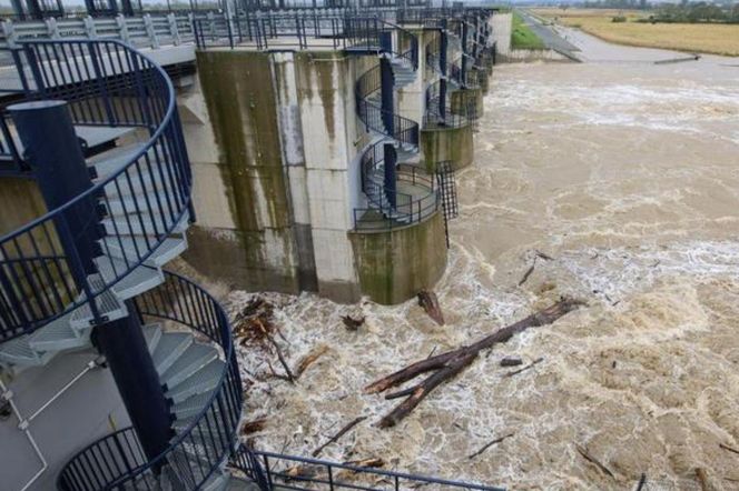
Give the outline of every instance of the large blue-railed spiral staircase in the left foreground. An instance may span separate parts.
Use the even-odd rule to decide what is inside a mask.
[[[158,455],[128,428],[71,458],[58,489],[250,489],[226,470],[243,402],[226,314],[162,270],[187,248],[194,218],[169,78],[118,41],[30,41],[14,54],[27,100],[67,102],[91,182],[0,239],[0,362],[17,373],[45,365],[91,348],[98,327],[136,315],[171,421]],[[100,151],[88,151],[90,133],[107,134]],[[3,122],[0,152],[28,169],[35,149],[24,152],[21,137]]]

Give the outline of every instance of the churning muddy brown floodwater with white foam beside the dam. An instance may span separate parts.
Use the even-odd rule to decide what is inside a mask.
[[[733,63],[737,64],[736,60]],[[739,68],[732,60],[496,68],[457,174],[460,218],[436,291],[447,324],[410,301],[337,305],[273,295],[292,363],[328,352],[296,385],[240,348],[260,449],[516,490],[739,490]],[[533,272],[519,285],[536,251]],[[481,357],[396,428],[362,388],[552,303],[588,307]],[[249,294],[233,292],[237,310]],[[366,315],[356,332],[341,315]],[[543,361],[504,378],[504,355]],[[396,401],[395,401],[396,402]],[[489,441],[513,437],[469,455]],[[609,477],[578,447],[601,462]]]

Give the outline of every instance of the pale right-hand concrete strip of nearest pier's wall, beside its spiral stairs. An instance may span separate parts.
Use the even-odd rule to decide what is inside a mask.
[[[338,51],[302,52],[295,64],[318,292],[351,302],[359,289],[346,232],[362,200],[355,163],[356,60]]]

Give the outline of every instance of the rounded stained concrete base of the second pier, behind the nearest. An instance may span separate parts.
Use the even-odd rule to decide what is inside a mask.
[[[474,161],[472,123],[461,128],[433,128],[421,130],[421,151],[426,171],[434,173],[436,163],[449,160],[452,169],[460,170]]]

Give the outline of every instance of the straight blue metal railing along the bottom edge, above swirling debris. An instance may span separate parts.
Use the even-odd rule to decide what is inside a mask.
[[[444,490],[504,491],[502,488],[483,484],[282,455],[252,450],[245,445],[242,445],[231,458],[230,465],[242,471],[252,481],[260,483],[259,489],[264,491],[269,491],[275,487],[296,491],[400,491],[420,487]]]

